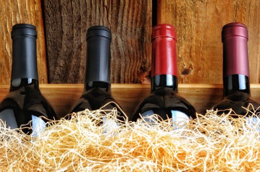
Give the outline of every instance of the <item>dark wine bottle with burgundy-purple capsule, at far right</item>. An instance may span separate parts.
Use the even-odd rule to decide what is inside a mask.
[[[223,99],[213,109],[246,115],[249,104],[260,105],[251,99],[248,62],[248,30],[242,23],[229,23],[222,28],[223,43]],[[244,107],[244,108],[242,108]],[[249,107],[252,111],[253,107]]]

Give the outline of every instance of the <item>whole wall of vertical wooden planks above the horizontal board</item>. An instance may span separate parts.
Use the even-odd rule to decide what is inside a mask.
[[[230,22],[249,29],[251,83],[260,83],[260,0],[0,0],[0,84],[10,83],[17,23],[37,27],[40,83],[84,82],[93,25],[112,30],[112,83],[149,83],[152,6],[153,21],[176,28],[179,83],[222,83],[221,29]]]

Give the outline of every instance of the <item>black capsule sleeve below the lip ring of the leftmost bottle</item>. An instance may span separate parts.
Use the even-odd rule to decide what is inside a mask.
[[[30,35],[13,36],[13,58],[11,81],[16,79],[38,80],[36,37]]]

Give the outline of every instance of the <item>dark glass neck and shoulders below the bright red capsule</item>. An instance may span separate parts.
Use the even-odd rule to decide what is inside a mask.
[[[196,117],[195,108],[177,92],[177,77],[156,75],[152,78],[151,94],[139,105],[132,121],[157,114],[162,120],[172,118],[174,122]]]

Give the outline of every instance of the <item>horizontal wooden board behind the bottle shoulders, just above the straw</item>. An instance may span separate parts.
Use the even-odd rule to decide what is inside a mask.
[[[80,97],[83,84],[42,84],[40,89],[43,95],[54,107],[58,116],[68,113],[71,106]],[[204,113],[222,98],[220,84],[180,84],[179,93],[196,108]],[[0,85],[0,101],[9,90],[9,85]],[[135,108],[150,94],[148,84],[112,84],[112,93],[126,114],[133,114]],[[251,94],[254,100],[260,102],[260,84],[251,84]]]

